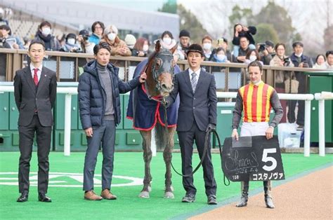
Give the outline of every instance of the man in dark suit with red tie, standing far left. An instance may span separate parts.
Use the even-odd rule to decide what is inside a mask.
[[[20,137],[20,162],[18,185],[21,193],[18,202],[26,202],[29,194],[30,159],[34,133],[37,136],[39,201],[51,202],[46,196],[48,188],[48,153],[51,146],[53,124],[52,108],[55,102],[57,80],[55,72],[42,66],[45,45],[32,41],[28,55],[30,66],[16,71],[14,95],[18,106],[18,131]]]

